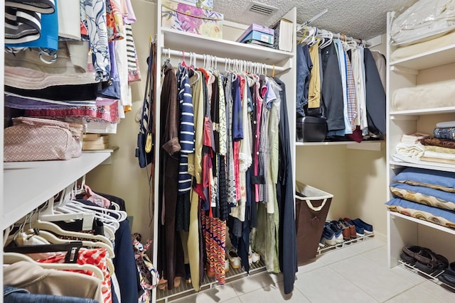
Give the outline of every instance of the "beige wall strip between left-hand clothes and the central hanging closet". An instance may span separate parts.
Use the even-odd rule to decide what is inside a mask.
[[[112,154],[112,164],[100,165],[87,175],[87,184],[99,192],[122,197],[129,216],[134,216],[132,232],[139,232],[144,239],[151,238],[151,197],[148,177],[150,169],[140,169],[136,149],[139,124],[134,120],[141,109],[146,79],[146,58],[149,55],[149,35],[156,33],[156,5],[144,0],[132,1],[137,22],[133,23],[134,43],[137,48],[141,82],[132,84],[133,110],[126,114],[117,127],[117,133],[109,135],[109,143],[119,149]]]

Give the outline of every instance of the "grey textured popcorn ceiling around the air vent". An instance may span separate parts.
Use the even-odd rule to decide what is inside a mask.
[[[154,0],[148,0],[156,2]],[[328,12],[311,23],[333,33],[343,33],[353,38],[370,39],[386,31],[387,11],[401,11],[415,0],[255,0],[278,8],[271,16],[248,11],[252,0],[213,0],[213,11],[224,13],[225,20],[249,25],[259,23],[269,26],[294,6],[297,23],[304,23],[321,13]]]

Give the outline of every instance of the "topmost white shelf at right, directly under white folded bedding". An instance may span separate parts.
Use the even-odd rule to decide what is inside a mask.
[[[429,50],[419,55],[390,62],[390,66],[406,67],[412,70],[425,70],[455,62],[455,44]]]

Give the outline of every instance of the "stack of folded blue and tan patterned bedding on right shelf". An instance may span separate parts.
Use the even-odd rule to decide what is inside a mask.
[[[455,228],[455,172],[407,167],[393,181],[388,209]]]

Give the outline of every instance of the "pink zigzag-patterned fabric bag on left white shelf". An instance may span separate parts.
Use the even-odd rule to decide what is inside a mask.
[[[4,129],[4,162],[68,160],[82,153],[81,124],[18,117]]]

